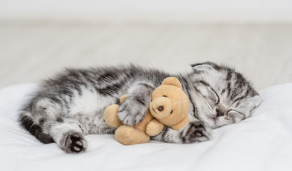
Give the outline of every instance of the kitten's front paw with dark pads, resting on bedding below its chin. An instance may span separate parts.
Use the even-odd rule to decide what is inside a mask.
[[[183,143],[203,142],[212,138],[212,129],[201,121],[189,123],[182,132]]]

